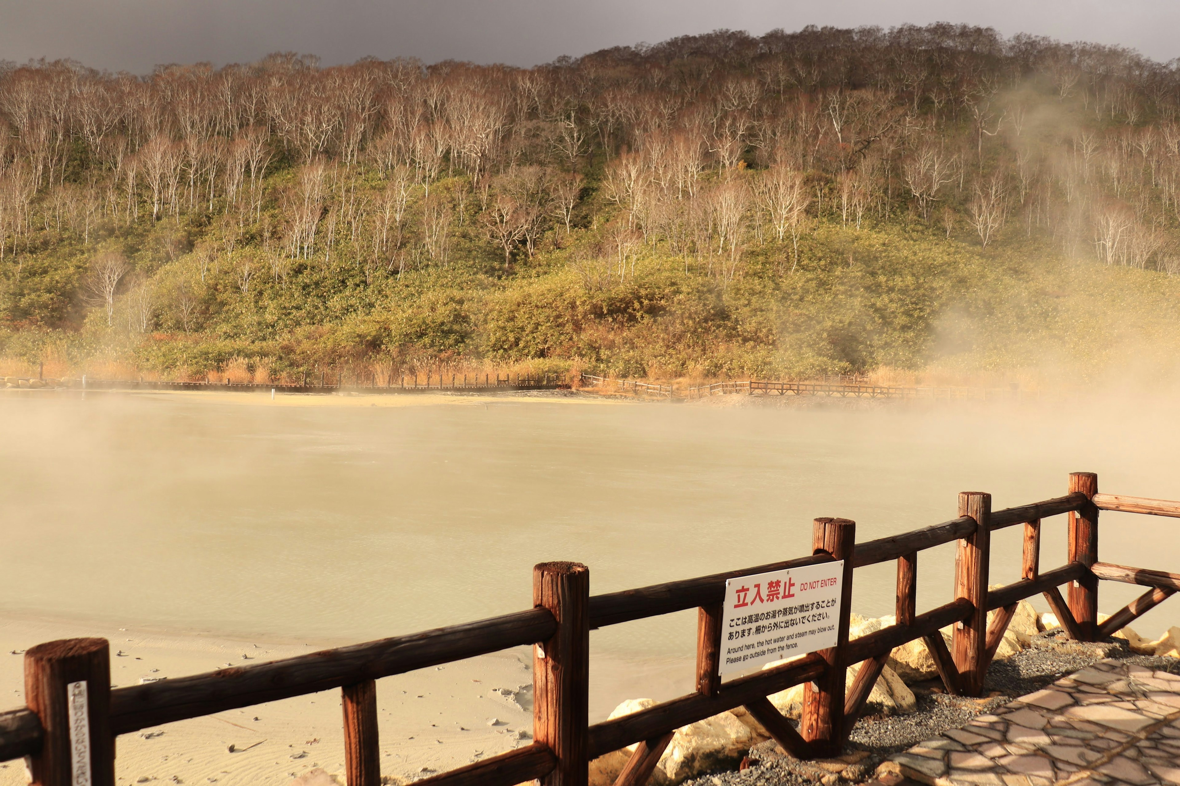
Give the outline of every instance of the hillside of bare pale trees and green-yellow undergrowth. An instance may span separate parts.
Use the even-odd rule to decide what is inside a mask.
[[[76,371],[1093,366],[1180,346],[1178,240],[1180,72],[1096,45],[0,65],[0,355]]]

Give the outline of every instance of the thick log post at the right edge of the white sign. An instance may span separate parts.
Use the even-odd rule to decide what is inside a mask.
[[[840,617],[835,647],[818,654],[827,668],[804,687],[804,714],[799,729],[817,757],[838,755],[844,739],[845,668],[841,665],[848,645],[848,616],[852,613],[852,551],[857,544],[857,522],[847,519],[817,519],[812,529],[815,554],[827,553],[844,560]]]

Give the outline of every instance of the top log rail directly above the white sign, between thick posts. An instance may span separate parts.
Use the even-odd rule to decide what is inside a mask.
[[[649,616],[683,612],[701,606],[714,606],[726,599],[726,580],[748,576],[755,573],[801,568],[808,564],[831,562],[827,554],[799,557],[785,562],[772,562],[742,570],[715,573],[700,579],[669,581],[662,584],[624,589],[617,593],[595,595],[590,599],[590,627],[603,628],[608,625],[643,620]],[[630,745],[630,742],[628,742]]]

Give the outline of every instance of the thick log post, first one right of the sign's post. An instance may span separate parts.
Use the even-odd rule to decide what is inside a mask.
[[[963,694],[977,696],[983,692],[983,678],[988,668],[985,652],[991,495],[983,491],[961,493],[959,515],[975,519],[976,528],[958,542],[958,554],[955,556],[955,597],[968,599],[975,610],[970,617],[955,625],[952,654]]]

